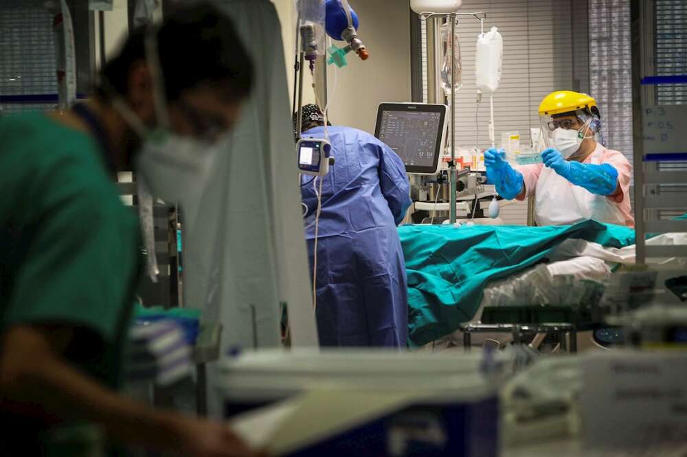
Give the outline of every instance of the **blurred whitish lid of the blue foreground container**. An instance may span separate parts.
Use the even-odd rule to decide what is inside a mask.
[[[484,392],[480,361],[479,355],[428,356],[392,350],[260,350],[225,361],[219,387],[225,398],[257,403],[286,399],[317,383],[469,394]]]

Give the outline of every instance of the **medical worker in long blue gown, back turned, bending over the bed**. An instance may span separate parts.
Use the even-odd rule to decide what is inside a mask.
[[[322,111],[302,109],[302,137],[325,138]],[[294,115],[294,125],[296,117]],[[322,178],[317,235],[317,331],[321,346],[405,348],[405,261],[396,225],[410,205],[401,158],[369,133],[328,127],[335,164]],[[320,179],[301,177],[313,268]]]

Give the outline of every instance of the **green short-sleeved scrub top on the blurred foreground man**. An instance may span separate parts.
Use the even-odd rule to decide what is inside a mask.
[[[23,323],[78,328],[87,338],[65,357],[116,388],[137,285],[139,228],[98,144],[43,113],[1,118],[0,195],[0,332]],[[21,455],[40,455],[27,446],[45,427],[2,416],[16,426],[0,428],[0,455],[12,454],[12,443]]]

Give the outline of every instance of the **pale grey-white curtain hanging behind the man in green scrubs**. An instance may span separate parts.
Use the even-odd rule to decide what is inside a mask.
[[[185,306],[232,346],[316,345],[280,23],[268,0],[218,0],[254,60],[256,82],[199,208],[185,211]]]

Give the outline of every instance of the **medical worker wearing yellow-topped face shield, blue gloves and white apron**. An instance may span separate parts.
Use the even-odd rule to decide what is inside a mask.
[[[503,150],[485,151],[487,182],[504,199],[534,192],[537,225],[568,225],[586,219],[634,227],[629,186],[632,166],[607,149],[596,100],[556,91],[539,105],[546,146],[542,164],[513,168]]]

